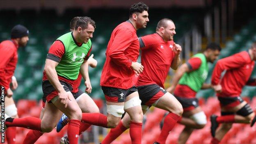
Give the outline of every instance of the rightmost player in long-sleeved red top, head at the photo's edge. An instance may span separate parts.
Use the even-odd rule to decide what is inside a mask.
[[[256,86],[256,79],[251,78],[256,60],[256,43],[247,51],[236,53],[229,57],[219,59],[212,75],[213,89],[221,107],[221,116],[212,115],[211,144],[218,144],[224,135],[232,128],[233,123],[251,123],[255,116],[250,105],[240,97],[245,85]],[[221,78],[221,73],[226,73]],[[221,124],[220,128],[217,127]],[[216,131],[217,129],[217,131]]]

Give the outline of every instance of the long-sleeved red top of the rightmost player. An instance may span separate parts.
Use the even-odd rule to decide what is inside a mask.
[[[247,84],[251,72],[254,69],[254,61],[251,60],[248,51],[242,51],[235,55],[219,59],[212,75],[212,85],[222,86],[220,97],[235,97],[241,94],[242,88]],[[221,79],[221,73],[226,70]],[[250,85],[256,85],[251,82]]]

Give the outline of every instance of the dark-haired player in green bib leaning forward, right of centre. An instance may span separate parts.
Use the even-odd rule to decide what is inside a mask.
[[[192,56],[187,63],[178,68],[171,87],[167,89],[170,93],[174,92],[184,110],[179,123],[185,125],[185,128],[178,138],[178,144],[185,144],[194,129],[201,129],[207,123],[206,115],[198,105],[196,94],[200,89],[211,88],[210,84],[204,83],[208,75],[208,62],[213,63],[220,50],[218,44],[208,44],[203,53]]]

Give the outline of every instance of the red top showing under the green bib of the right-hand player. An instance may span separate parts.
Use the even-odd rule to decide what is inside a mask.
[[[187,66],[189,67],[190,71],[195,71],[199,69],[201,66],[201,59],[199,57],[193,57],[187,61]],[[183,98],[195,98],[197,92],[193,91],[189,86],[187,85],[177,85],[174,90],[174,95],[178,97]]]

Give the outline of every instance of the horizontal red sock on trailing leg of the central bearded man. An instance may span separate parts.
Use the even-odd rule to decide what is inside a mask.
[[[107,116],[101,113],[82,113],[81,121],[107,128]]]

